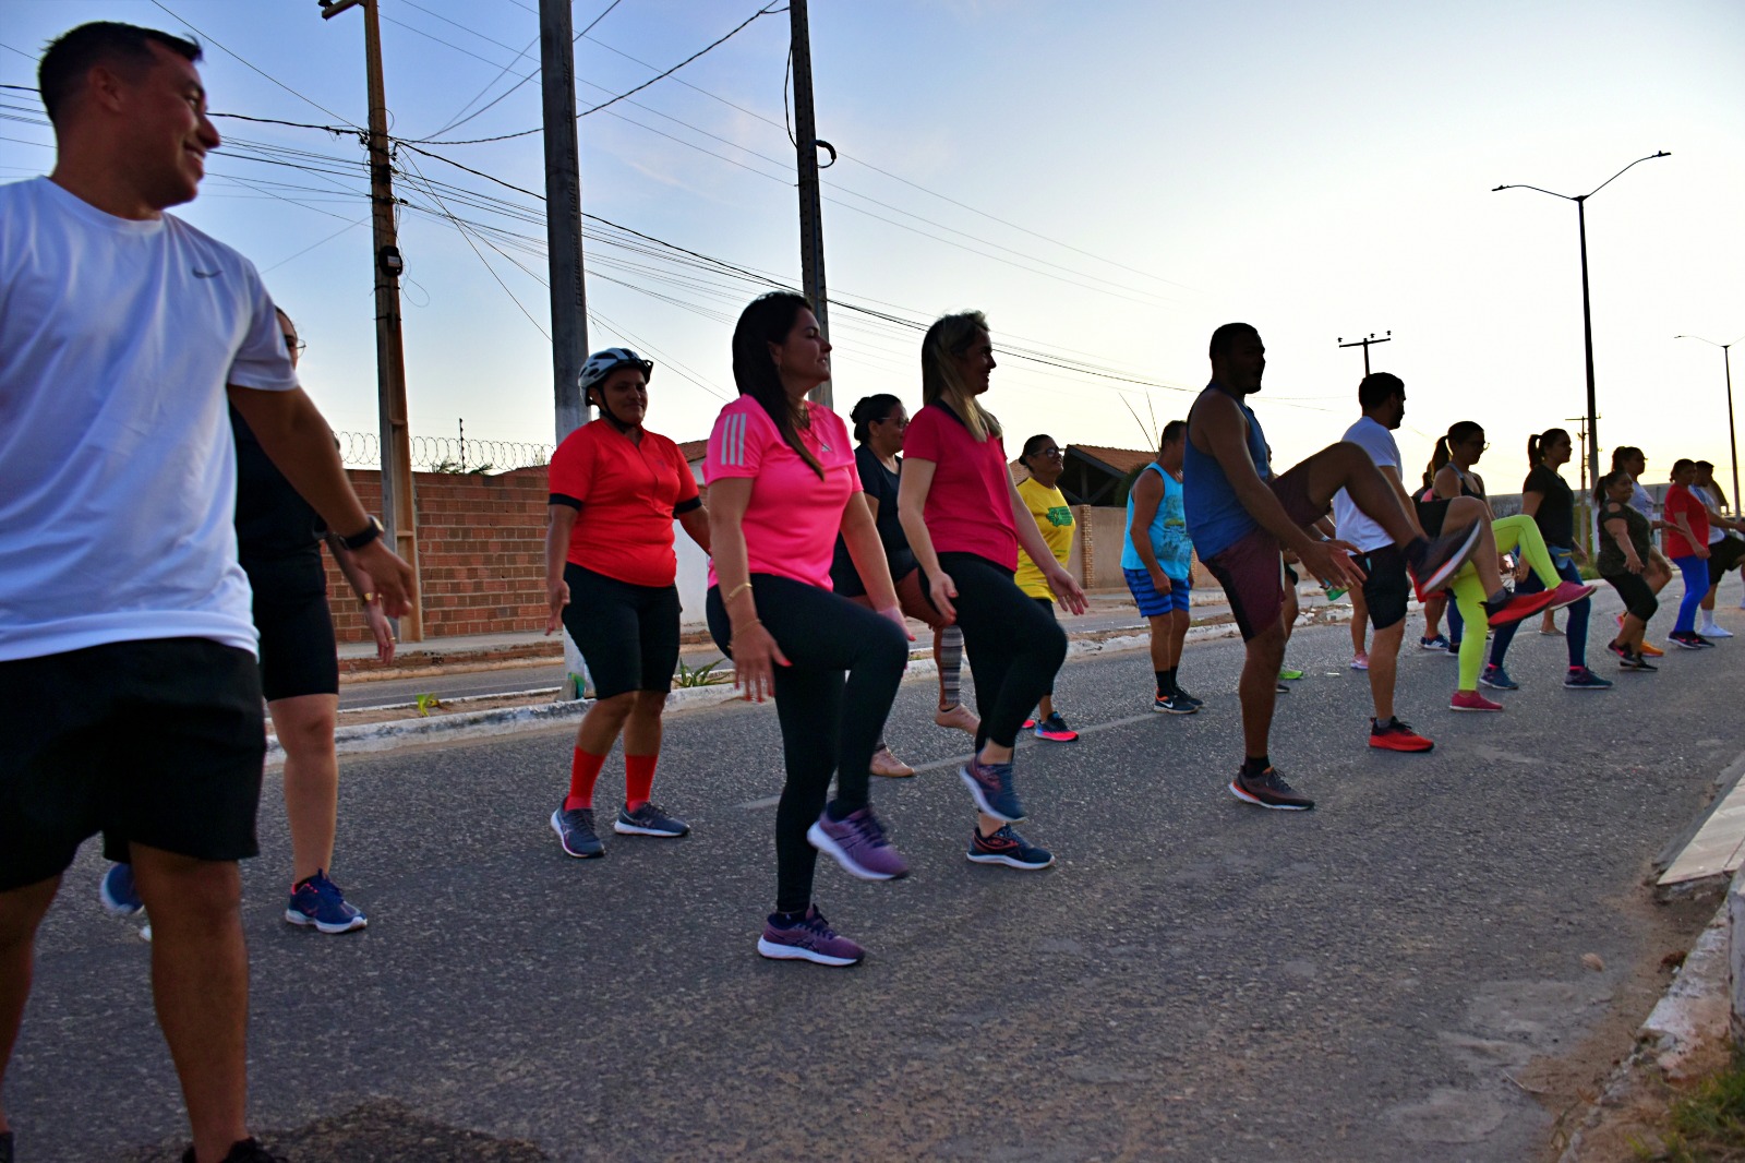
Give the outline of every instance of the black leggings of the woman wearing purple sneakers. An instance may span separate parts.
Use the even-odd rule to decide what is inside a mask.
[[[824,810],[832,774],[832,815],[867,805],[872,746],[909,665],[909,641],[892,620],[829,590],[768,573],[750,580],[757,616],[790,664],[773,667],[787,765],[775,810],[775,908],[797,913],[811,905],[818,861],[806,829]],[[721,587],[708,588],[707,606],[708,632],[731,658],[733,623]]]

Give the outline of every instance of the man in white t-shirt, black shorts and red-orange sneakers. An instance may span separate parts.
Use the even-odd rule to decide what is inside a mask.
[[[1363,409],[1363,419],[1345,430],[1345,440],[1370,454],[1382,477],[1399,494],[1399,506],[1412,519],[1412,526],[1417,527],[1417,510],[1399,477],[1399,445],[1394,442],[1394,430],[1406,414],[1406,386],[1387,372],[1365,375],[1358,384],[1358,405]],[[1370,611],[1370,625],[1375,627],[1375,643],[1370,646],[1370,695],[1375,700],[1370,746],[1384,751],[1429,751],[1434,746],[1429,739],[1413,732],[1410,723],[1394,718],[1394,674],[1399,665],[1399,643],[1406,634],[1406,601],[1412,597],[1405,554],[1344,489],[1333,496],[1333,526],[1340,541],[1359,550],[1358,564],[1365,573],[1363,601]],[[1419,529],[1419,536],[1422,533]]]

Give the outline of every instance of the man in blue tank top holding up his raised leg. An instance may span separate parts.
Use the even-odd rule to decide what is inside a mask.
[[[1235,625],[1248,644],[1239,695],[1246,758],[1230,793],[1269,809],[1305,810],[1314,800],[1295,791],[1267,754],[1279,665],[1284,662],[1284,561],[1281,548],[1302,559],[1314,578],[1363,585],[1352,547],[1309,527],[1321,520],[1333,494],[1345,489],[1356,506],[1399,547],[1424,592],[1441,588],[1473,552],[1478,526],[1447,529],[1426,541],[1393,487],[1356,444],[1321,449],[1286,473],[1274,473],[1267,438],[1246,398],[1260,391],[1267,348],[1248,323],[1225,323],[1211,335],[1211,382],[1188,412],[1183,458],[1188,534],[1201,562],[1230,599]]]

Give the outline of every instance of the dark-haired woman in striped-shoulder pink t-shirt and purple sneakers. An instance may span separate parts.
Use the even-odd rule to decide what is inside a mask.
[[[866,950],[811,899],[818,850],[862,880],[909,868],[867,802],[872,749],[909,662],[909,632],[878,529],[860,499],[841,417],[806,395],[831,377],[831,344],[804,299],[752,300],[733,332],[740,398],[708,437],[714,548],[708,632],[749,698],[775,695],[787,781],[775,815],[775,912],[757,952],[852,966]],[[841,534],[872,609],[831,592]],[[825,803],[836,775],[836,800]]]

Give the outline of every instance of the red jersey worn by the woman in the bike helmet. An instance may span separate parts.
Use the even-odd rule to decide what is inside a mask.
[[[630,585],[674,583],[674,517],[701,505],[679,445],[646,428],[642,442],[632,444],[597,419],[557,445],[550,482],[551,503],[578,510],[571,564]]]

